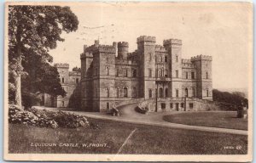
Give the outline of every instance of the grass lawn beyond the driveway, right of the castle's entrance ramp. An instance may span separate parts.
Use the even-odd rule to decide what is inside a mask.
[[[165,121],[192,126],[214,126],[247,130],[247,119],[236,118],[236,112],[185,112],[177,115],[165,115]]]

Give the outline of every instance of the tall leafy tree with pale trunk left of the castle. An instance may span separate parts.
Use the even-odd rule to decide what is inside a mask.
[[[79,20],[69,7],[9,6],[9,82],[15,87],[15,104],[20,108],[21,75],[36,73],[36,62],[26,69],[24,63],[38,56],[42,63],[52,62],[49,49],[64,41],[62,31],[76,31],[78,25]]]

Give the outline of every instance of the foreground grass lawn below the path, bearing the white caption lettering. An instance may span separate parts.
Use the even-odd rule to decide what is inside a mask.
[[[120,154],[162,155],[243,155],[247,154],[247,136],[199,132],[160,126],[135,125],[89,119],[100,129],[40,128],[9,125],[9,153],[38,154],[116,154],[131,131]],[[107,143],[107,147],[34,147],[31,143]],[[226,146],[241,149],[224,149]]]

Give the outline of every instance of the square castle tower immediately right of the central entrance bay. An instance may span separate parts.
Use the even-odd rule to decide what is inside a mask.
[[[182,97],[182,41],[178,39],[164,40],[168,52],[170,97]]]

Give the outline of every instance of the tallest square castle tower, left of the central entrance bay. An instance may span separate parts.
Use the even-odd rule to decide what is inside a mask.
[[[155,97],[155,37],[138,37],[137,53],[139,55],[140,97]]]

